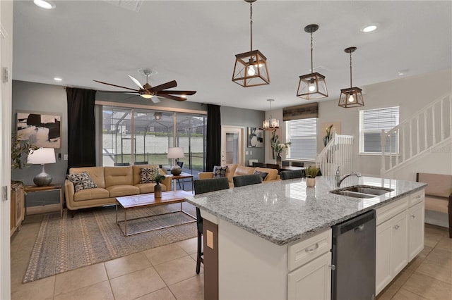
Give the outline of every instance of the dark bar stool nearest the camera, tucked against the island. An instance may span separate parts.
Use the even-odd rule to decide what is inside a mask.
[[[221,189],[229,189],[229,180],[226,177],[199,179],[194,181],[195,195],[204,194],[213,191],[220,191]],[[201,263],[204,263],[202,250],[202,236],[203,236],[203,218],[201,211],[196,207],[196,227],[198,227],[198,254],[196,254],[196,274],[201,270]]]

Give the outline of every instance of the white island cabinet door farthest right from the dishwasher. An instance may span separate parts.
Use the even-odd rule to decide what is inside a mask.
[[[408,209],[408,261],[424,249],[424,201]]]

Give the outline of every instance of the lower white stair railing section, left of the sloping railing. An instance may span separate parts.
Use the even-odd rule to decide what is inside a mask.
[[[340,173],[352,172],[353,162],[353,136],[333,134],[330,142],[326,144],[316,158],[322,175],[334,175],[340,166]]]

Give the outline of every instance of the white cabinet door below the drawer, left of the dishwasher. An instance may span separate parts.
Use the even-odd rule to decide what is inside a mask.
[[[331,253],[287,275],[287,299],[331,299]]]

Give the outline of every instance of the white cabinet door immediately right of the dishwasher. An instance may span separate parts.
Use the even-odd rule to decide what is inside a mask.
[[[376,227],[376,251],[375,251],[375,293],[381,292],[391,282],[391,244],[392,228],[391,220]]]

